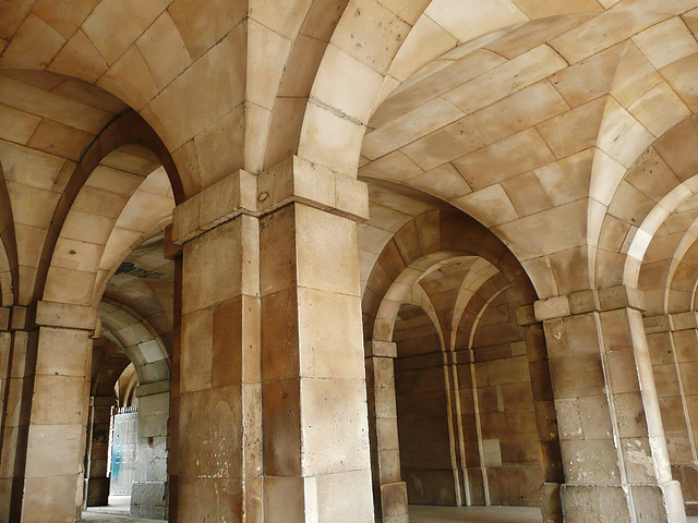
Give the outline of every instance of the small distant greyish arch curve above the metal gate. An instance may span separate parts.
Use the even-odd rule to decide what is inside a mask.
[[[103,331],[135,366],[141,385],[170,379],[168,349],[155,328],[135,311],[104,297],[98,306]]]

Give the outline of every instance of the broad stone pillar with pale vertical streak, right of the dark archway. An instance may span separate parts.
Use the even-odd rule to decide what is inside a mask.
[[[616,287],[535,303],[559,424],[565,521],[686,521],[641,317]]]

